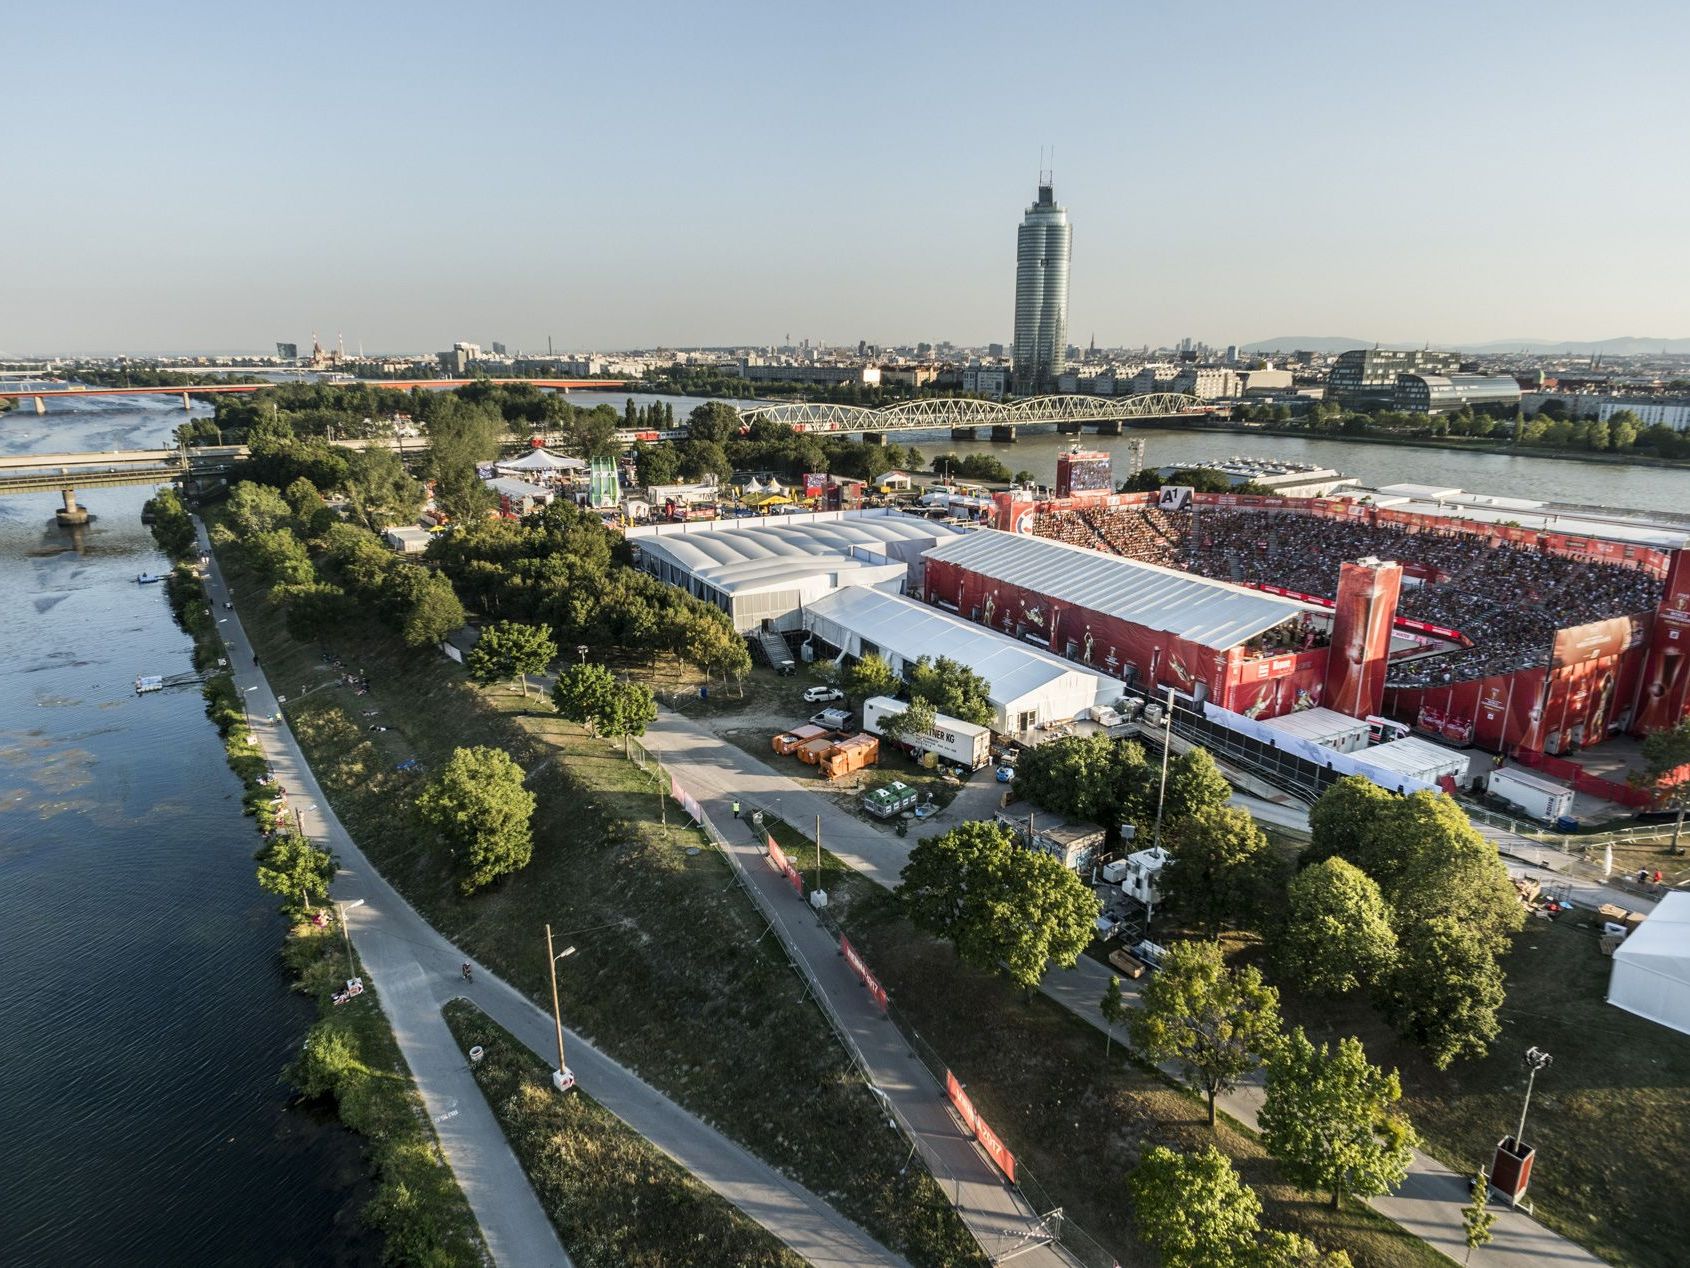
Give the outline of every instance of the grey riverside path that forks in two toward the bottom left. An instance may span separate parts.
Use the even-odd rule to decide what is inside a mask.
[[[208,549],[203,534],[201,549]],[[252,661],[245,631],[233,610],[221,609],[226,588],[215,556],[208,592],[248,712],[274,715],[275,697]],[[336,903],[360,903],[346,910],[346,926],[493,1258],[521,1268],[568,1265],[551,1221],[446,1028],[441,1006],[456,996],[475,1001],[548,1060],[558,1047],[551,1016],[482,965],[475,969],[473,984],[465,986],[458,967],[470,957],[439,935],[363,857],[330,808],[286,722],[259,724],[254,734],[289,790],[291,805],[301,810],[306,833],[340,857],[333,896]],[[570,1067],[595,1101],[810,1263],[820,1268],[904,1265],[820,1197],[676,1106],[581,1036],[566,1030],[564,1040]]]

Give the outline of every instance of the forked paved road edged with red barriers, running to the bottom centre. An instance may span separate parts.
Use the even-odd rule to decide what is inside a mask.
[[[826,1006],[848,1033],[867,1077],[897,1109],[928,1170],[987,1254],[994,1260],[1014,1254],[1017,1265],[1071,1263],[1063,1251],[1044,1244],[1036,1212],[963,1131],[933,1075],[909,1052],[897,1026],[847,967],[838,940],[767,866],[749,825],[735,822],[732,801],[740,800],[747,808],[776,808],[794,823],[813,823],[815,815],[821,813],[826,847],[852,866],[860,861],[865,869],[874,867],[870,874],[877,874],[877,879],[886,874],[884,867],[892,855],[902,854],[897,847],[904,847],[904,842],[886,837],[894,845],[882,847],[882,833],[874,827],[840,813],[826,798],[799,791],[767,768],[759,771],[760,762],[713,734],[695,729],[676,713],[666,712],[644,742],[657,752],[681,788],[693,795],[711,825],[723,825],[718,833],[723,850],[747,884],[762,896],[764,911],[781,940],[825,996]],[[786,786],[777,786],[777,781]],[[874,862],[875,859],[880,862]],[[896,879],[894,869],[886,884]]]

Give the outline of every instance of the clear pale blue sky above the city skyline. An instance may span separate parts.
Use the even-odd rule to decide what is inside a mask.
[[[1690,336],[1690,5],[14,7],[0,355]]]

